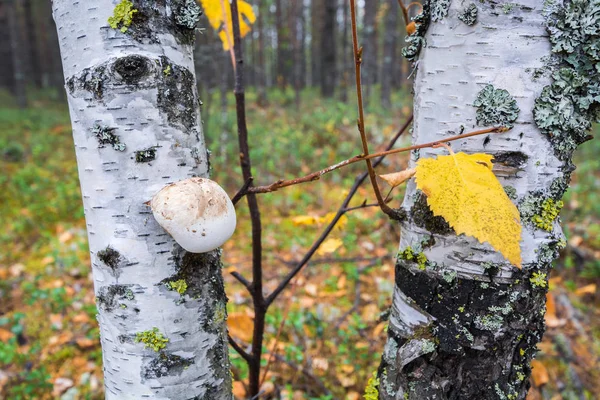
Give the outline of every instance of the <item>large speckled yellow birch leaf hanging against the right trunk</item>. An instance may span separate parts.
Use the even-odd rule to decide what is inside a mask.
[[[427,195],[435,215],[457,234],[488,242],[521,268],[521,219],[492,173],[489,154],[457,153],[417,162],[417,188]]]

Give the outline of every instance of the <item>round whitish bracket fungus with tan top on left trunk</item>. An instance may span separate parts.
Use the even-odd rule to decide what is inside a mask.
[[[235,208],[215,181],[189,178],[165,186],[150,200],[154,218],[190,253],[206,253],[235,231]]]

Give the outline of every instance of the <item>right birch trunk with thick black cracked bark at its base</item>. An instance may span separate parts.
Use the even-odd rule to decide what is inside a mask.
[[[534,121],[536,99],[561,61],[550,58],[543,0],[438,0],[430,6],[434,18],[428,28],[429,18],[422,22],[427,31],[416,63],[413,141],[481,129],[474,103],[488,84],[516,99],[520,113],[512,130],[452,147],[495,156],[494,173],[521,212],[523,269],[489,245],[455,235],[432,215],[411,181],[402,205],[408,219],[400,250],[410,246],[427,261],[397,261],[379,398],[524,399],[544,332],[547,274],[564,245],[558,221],[549,219],[544,227],[536,217],[556,206],[573,169],[570,152],[561,154]],[[473,7],[476,21],[468,18]],[[423,149],[412,154],[411,164],[445,153]]]

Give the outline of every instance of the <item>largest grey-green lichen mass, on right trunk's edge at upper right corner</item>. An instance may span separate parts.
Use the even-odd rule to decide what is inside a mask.
[[[536,99],[534,119],[568,161],[600,117],[600,2],[549,2],[546,21],[560,68]]]

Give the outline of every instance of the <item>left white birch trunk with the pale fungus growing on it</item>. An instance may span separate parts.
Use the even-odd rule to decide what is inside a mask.
[[[133,23],[113,29],[116,0],[53,2],[107,399],[232,398],[220,254],[186,253],[144,204],[209,170],[194,4],[136,1]]]

